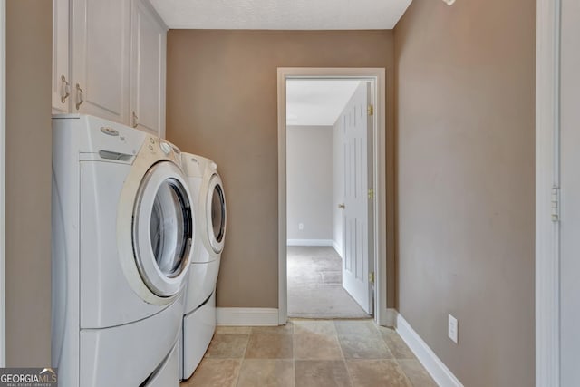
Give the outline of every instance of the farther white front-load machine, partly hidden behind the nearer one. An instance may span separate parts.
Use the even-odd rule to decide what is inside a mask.
[[[216,283],[226,237],[226,197],[212,160],[181,153],[181,165],[194,201],[197,234],[183,312],[181,379],[198,367],[216,330]]]

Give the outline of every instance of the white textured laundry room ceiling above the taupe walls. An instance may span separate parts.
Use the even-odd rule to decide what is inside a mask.
[[[169,28],[391,29],[411,0],[150,0]]]

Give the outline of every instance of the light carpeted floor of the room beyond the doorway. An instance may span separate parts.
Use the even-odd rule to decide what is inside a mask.
[[[333,247],[289,246],[288,315],[306,318],[369,317],[343,289],[342,259]]]

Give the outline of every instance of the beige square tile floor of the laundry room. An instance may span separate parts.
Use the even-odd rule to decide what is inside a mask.
[[[399,334],[372,320],[218,327],[181,387],[437,386]]]

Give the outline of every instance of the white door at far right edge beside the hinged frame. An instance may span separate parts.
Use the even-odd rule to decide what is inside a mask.
[[[580,385],[580,2],[562,1],[560,357],[562,386]]]

